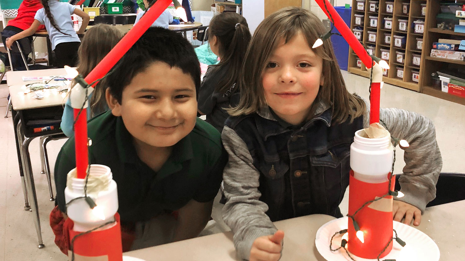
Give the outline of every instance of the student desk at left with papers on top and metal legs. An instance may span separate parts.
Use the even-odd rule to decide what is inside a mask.
[[[24,95],[22,86],[26,83],[34,83],[40,81],[24,82],[22,76],[55,76],[66,75],[65,69],[47,69],[47,70],[30,70],[30,71],[9,71],[7,72],[7,85],[10,91],[10,97],[13,105],[12,119],[14,134],[16,136],[16,149],[18,151],[18,164],[20,166],[21,185],[23,187],[25,210],[30,210],[34,214],[34,225],[37,232],[39,248],[43,248],[42,233],[40,228],[39,210],[37,205],[37,196],[35,193],[35,185],[33,172],[31,168],[31,160],[29,156],[29,144],[36,138],[41,137],[41,141],[46,144],[48,140],[59,139],[58,134],[62,134],[60,129],[49,130],[38,134],[25,135],[25,128],[21,119],[25,119],[25,114],[32,112],[38,108],[57,108],[61,107],[65,101],[62,94],[50,92],[46,98],[38,100],[33,98],[32,94]],[[46,137],[45,139],[43,137]],[[42,155],[42,154],[41,154]],[[48,160],[46,159],[46,162]],[[48,165],[46,165],[47,168]],[[51,200],[53,200],[52,195]]]

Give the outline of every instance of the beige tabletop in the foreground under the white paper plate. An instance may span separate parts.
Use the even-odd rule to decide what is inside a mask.
[[[429,207],[423,213],[418,229],[437,244],[441,261],[463,260],[465,251],[465,200]],[[274,224],[285,232],[283,256],[280,261],[325,261],[315,246],[316,232],[334,219],[327,215],[309,215],[282,220]],[[146,261],[236,261],[231,232],[201,236],[180,242],[124,253]]]

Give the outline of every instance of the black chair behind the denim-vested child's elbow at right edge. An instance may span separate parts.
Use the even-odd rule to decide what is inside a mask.
[[[396,175],[396,190],[400,189],[399,176]],[[426,207],[465,200],[465,174],[441,172],[436,184],[436,198]]]

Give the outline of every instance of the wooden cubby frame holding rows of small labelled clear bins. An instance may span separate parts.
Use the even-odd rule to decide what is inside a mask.
[[[427,0],[430,1],[430,0]],[[420,91],[420,84],[412,81],[412,70],[420,70],[420,77],[423,71],[423,67],[416,66],[412,64],[412,54],[420,54],[421,59],[424,59],[425,52],[422,50],[416,49],[416,38],[423,37],[423,34],[415,33],[414,29],[411,27],[413,21],[417,19],[426,19],[421,15],[421,3],[425,3],[425,0],[410,0],[410,11],[405,14],[402,12],[402,2],[408,2],[405,0],[394,0],[393,13],[386,12],[386,0],[379,1],[378,12],[370,12],[369,1],[365,0],[365,11],[357,11],[357,1],[352,0],[352,22],[351,29],[359,27],[355,25],[355,14],[364,14],[364,26],[363,26],[363,38],[362,42],[365,46],[375,45],[374,55],[381,57],[381,49],[389,48],[389,67],[391,68],[388,71],[387,76],[383,76],[383,81],[385,83],[390,83],[397,85],[403,88],[412,89],[415,91]],[[378,26],[376,28],[370,26],[369,16],[378,17]],[[385,29],[384,18],[392,17],[392,29]],[[399,30],[399,19],[408,19],[407,32]],[[368,41],[368,31],[376,31],[376,43],[371,43]],[[386,45],[384,38],[385,33],[391,33],[391,44]],[[406,36],[405,47],[400,48],[394,45],[394,36],[403,35]],[[404,63],[400,64],[396,60],[396,51],[405,52]],[[369,77],[370,74],[366,71],[365,66],[362,65],[362,68],[357,67],[357,57],[354,54],[353,50],[349,49],[349,64],[348,71],[360,76]],[[397,77],[396,67],[402,67],[404,70],[404,76],[402,78]]]

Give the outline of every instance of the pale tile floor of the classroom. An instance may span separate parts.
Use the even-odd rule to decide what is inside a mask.
[[[368,98],[368,79],[348,74],[343,71],[348,89]],[[5,113],[7,105],[7,86],[0,85],[0,115]],[[437,140],[443,156],[443,172],[465,172],[465,106],[447,102],[432,96],[420,94],[408,89],[386,84],[381,90],[381,106],[397,107],[421,113],[434,121]],[[10,114],[11,115],[11,114]],[[50,142],[48,155],[50,165],[65,140]],[[0,261],[29,260],[66,260],[53,243],[53,233],[48,224],[48,214],[53,208],[53,202],[48,200],[46,177],[40,174],[40,158],[38,139],[30,145],[34,180],[39,199],[40,221],[45,248],[37,248],[37,236],[33,224],[33,215],[24,211],[24,199],[20,185],[18,161],[14,142],[13,123],[11,116],[0,117]],[[405,165],[402,150],[398,150],[395,172],[399,173]],[[221,206],[218,197],[213,208],[213,218],[218,225],[205,231],[210,234],[227,229],[220,221]],[[341,204],[342,212],[347,211],[347,197]]]

